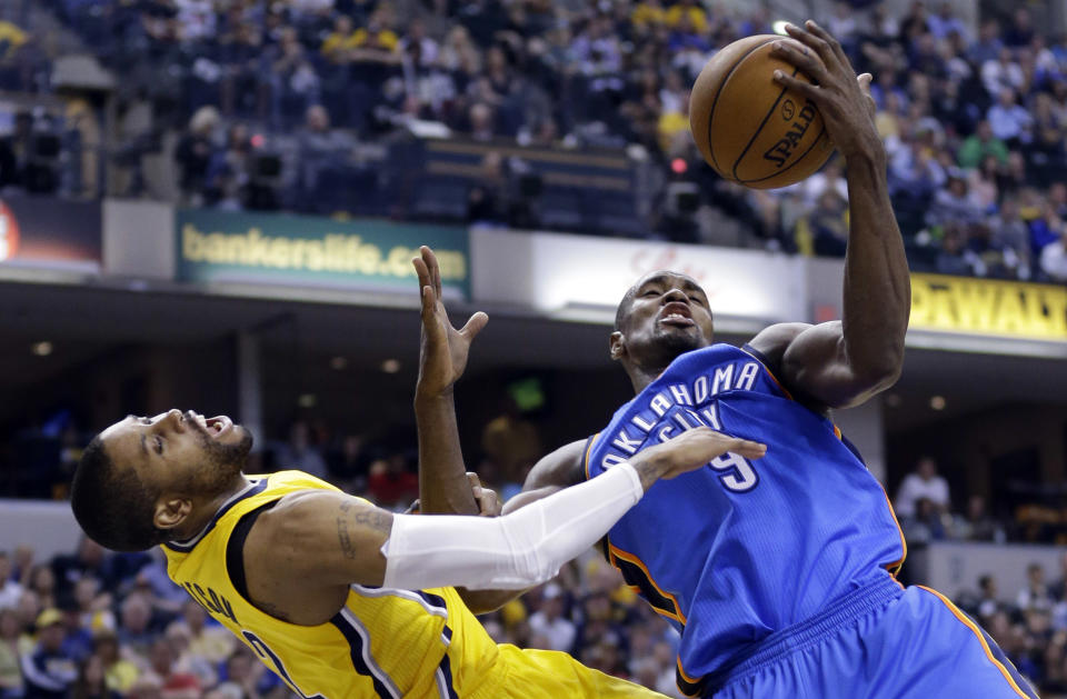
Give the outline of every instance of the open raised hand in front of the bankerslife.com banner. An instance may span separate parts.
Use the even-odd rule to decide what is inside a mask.
[[[418,396],[433,398],[452,390],[467,367],[467,355],[475,336],[486,327],[489,317],[478,311],[457,330],[448,320],[441,301],[441,269],[428,247],[419,248],[412,259],[422,292],[422,340],[419,347]]]

